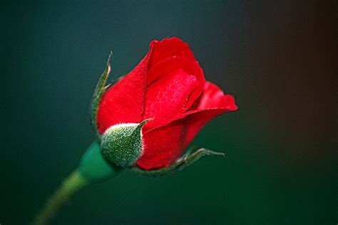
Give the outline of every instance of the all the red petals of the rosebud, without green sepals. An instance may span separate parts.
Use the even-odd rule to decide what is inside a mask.
[[[135,166],[153,170],[178,161],[208,121],[236,109],[231,95],[205,81],[188,44],[173,37],[152,41],[138,66],[103,94],[96,128],[103,135],[117,124],[152,119],[142,128]]]

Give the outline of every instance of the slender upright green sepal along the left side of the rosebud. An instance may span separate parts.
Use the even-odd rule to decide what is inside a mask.
[[[113,55],[113,52],[109,52],[109,56],[107,59],[106,69],[103,71],[103,74],[101,75],[100,79],[98,80],[98,84],[96,84],[96,88],[94,89],[93,96],[91,98],[91,125],[93,126],[93,129],[95,133],[97,134],[98,138],[100,139],[101,136],[98,134],[98,123],[97,123],[97,117],[98,117],[98,105],[100,104],[100,101],[102,99],[102,96],[106,89],[108,89],[108,86],[106,86],[106,82],[108,79],[108,76],[111,72],[111,56]]]

